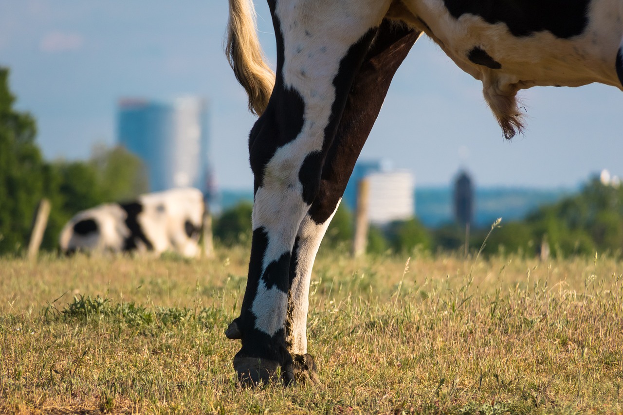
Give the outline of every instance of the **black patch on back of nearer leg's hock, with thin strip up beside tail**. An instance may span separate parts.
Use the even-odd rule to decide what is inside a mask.
[[[297,138],[303,129],[305,103],[297,90],[283,86],[283,34],[275,15],[275,1],[269,0],[277,41],[275,87],[262,116],[249,134],[249,161],[255,178],[255,191],[264,183],[264,168],[281,146]]]

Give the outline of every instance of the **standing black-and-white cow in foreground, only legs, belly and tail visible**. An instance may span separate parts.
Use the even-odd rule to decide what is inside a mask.
[[[425,33],[482,81],[511,138],[516,93],[623,82],[623,0],[268,0],[276,74],[251,0],[230,0],[227,54],[260,115],[249,151],[253,239],[240,317],[240,381],[315,379],[305,333],[312,265],[389,83]]]

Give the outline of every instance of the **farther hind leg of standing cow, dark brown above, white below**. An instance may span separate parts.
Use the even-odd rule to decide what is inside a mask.
[[[323,165],[320,189],[298,229],[290,260],[290,295],[286,343],[298,381],[318,381],[307,353],[307,314],[313,262],[320,242],[346,189],[359,152],[376,121],[389,84],[419,37],[406,26],[383,21],[354,77],[333,143]]]

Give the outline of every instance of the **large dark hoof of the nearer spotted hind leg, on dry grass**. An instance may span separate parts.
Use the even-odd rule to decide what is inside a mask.
[[[294,382],[292,366],[282,368],[280,363],[273,360],[235,356],[234,369],[238,374],[238,381],[244,386],[260,386],[279,381],[288,385]]]

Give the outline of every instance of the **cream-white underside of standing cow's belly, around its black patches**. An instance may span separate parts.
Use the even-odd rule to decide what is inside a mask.
[[[443,0],[407,0],[405,4],[428,24],[449,57],[483,82],[518,83],[519,88],[577,87],[591,82],[618,86],[612,68],[617,44],[623,36],[619,1],[593,1],[586,30],[569,39],[558,38],[547,31],[516,37],[504,23],[489,24],[472,14],[464,14],[457,20],[445,8]],[[467,55],[475,46],[500,62],[502,69],[489,69],[470,62]]]

